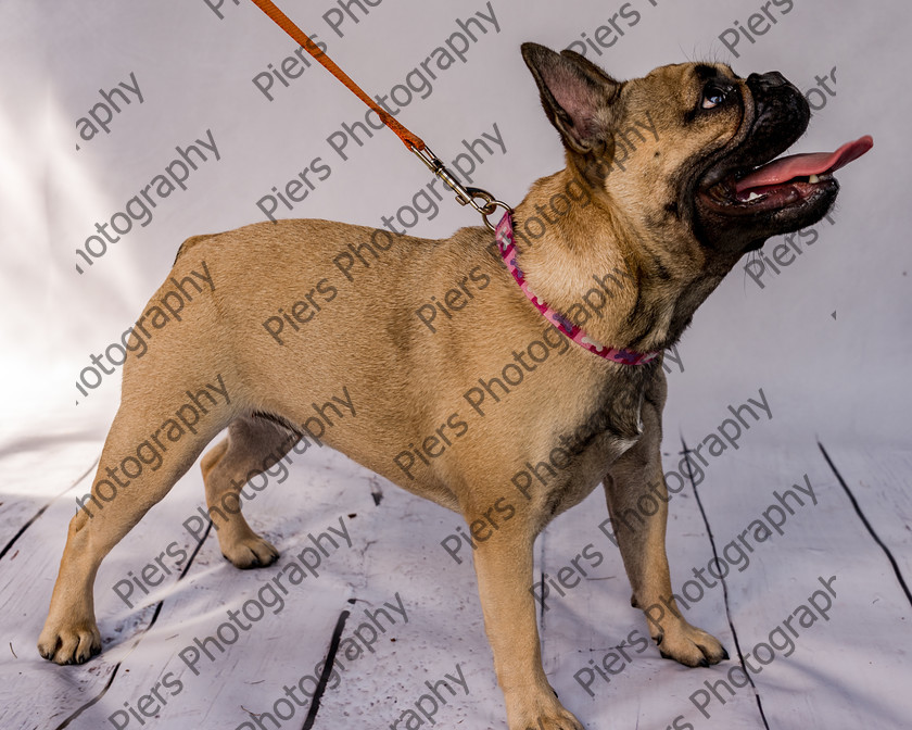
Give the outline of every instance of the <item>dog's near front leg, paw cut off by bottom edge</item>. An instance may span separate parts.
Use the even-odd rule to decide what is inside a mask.
[[[534,541],[529,514],[518,511],[494,539],[474,552],[497,682],[504,691],[510,730],[583,730],[557,701],[542,667],[535,601],[529,591]]]

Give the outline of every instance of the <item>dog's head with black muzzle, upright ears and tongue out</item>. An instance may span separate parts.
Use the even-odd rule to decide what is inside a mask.
[[[594,193],[649,238],[696,242],[729,265],[822,218],[839,189],[832,173],[871,146],[771,162],[810,121],[777,72],[745,79],[724,64],[686,63],[617,81],[572,51],[525,43],[522,55],[568,164]]]

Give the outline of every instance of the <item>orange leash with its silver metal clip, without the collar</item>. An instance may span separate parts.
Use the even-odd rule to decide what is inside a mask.
[[[330,74],[335,76],[346,89],[354,93],[365,104],[367,104],[380,117],[396,137],[398,137],[406,148],[413,152],[434,175],[442,179],[456,193],[456,202],[460,205],[471,205],[480,214],[484,221],[484,225],[490,230],[496,230],[496,226],[492,224],[487,216],[492,215],[498,207],[503,207],[507,213],[511,209],[506,203],[497,200],[486,190],[480,188],[466,187],[451,173],[438,158],[431,148],[429,148],[425,140],[418,135],[409,131],[404,125],[400,124],[396,118],[390,114],[385,109],[380,106],[373,99],[371,99],[355,81],[342,71],[335,62],[330,59],[319,46],[311,40],[307,35],[301,30],[292,20],[276,7],[273,0],[253,0],[253,3],[259,8],[266,15],[284,30],[291,38],[307,51],[314,59],[320,63]],[[481,201],[481,202],[479,202]]]

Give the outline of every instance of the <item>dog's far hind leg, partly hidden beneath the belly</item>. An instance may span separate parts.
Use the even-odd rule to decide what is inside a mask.
[[[287,471],[281,460],[295,441],[297,436],[283,426],[265,417],[244,416],[231,421],[228,437],[203,456],[206,504],[218,527],[218,544],[238,568],[271,565],[279,556],[241,514],[241,492],[248,481],[267,469],[278,466]]]

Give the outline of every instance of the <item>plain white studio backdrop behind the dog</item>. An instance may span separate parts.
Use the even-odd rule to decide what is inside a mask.
[[[506,153],[492,149],[478,164],[473,184],[507,202],[518,202],[532,180],[562,165],[557,134],[519,54],[525,40],[587,48],[588,58],[620,78],[707,58],[731,62],[742,75],[778,70],[820,108],[794,151],[831,151],[872,135],[874,150],[838,173],[843,191],[834,223],[818,224],[816,240],[803,244],[803,253],[778,275],[768,270],[762,288],[736,268],[697,313],[680,345],[684,373],[670,377],[666,450],[679,451],[682,432],[693,438],[712,431],[729,404],[756,398],[759,388],[775,417],[771,428],[750,437],[756,441],[749,450],[739,452],[752,469],[772,473],[768,454],[776,452],[782,463],[798,464],[787,477],[797,478],[793,471],[808,467],[795,453],[815,452],[816,439],[871,452],[909,449],[908,3],[371,2],[362,3],[366,15],[357,3],[351,5],[358,23],[333,0],[280,4],[372,93],[389,93],[405,83],[459,29],[457,21],[493,11],[496,23],[480,18],[470,26],[477,40],[468,43],[466,62],[440,72],[432,92],[425,99],[415,95],[400,118],[447,162],[465,151],[464,140],[494,134],[496,125]],[[736,22],[757,27],[750,18],[763,5],[775,23],[769,22],[755,42],[740,36],[732,51],[720,40],[724,36],[732,45]],[[342,21],[342,37],[328,20]],[[612,20],[623,35],[598,30]],[[585,45],[596,36],[611,43],[599,49],[600,55]],[[38,444],[36,465],[18,470],[24,476],[5,486],[8,495],[33,494],[38,466],[42,479],[60,473],[59,489],[42,487],[47,495],[78,476],[71,471],[81,462],[67,461],[69,452],[58,451],[58,441],[84,439],[97,451],[116,410],[119,368],[96,388],[83,385],[85,393],[77,383],[85,376],[84,382],[94,385],[93,376],[85,375],[85,368],[99,369],[93,355],[110,367],[105,349],[136,320],[187,237],[263,219],[257,201],[307,167],[315,189],[293,211],[280,207],[277,215],[379,226],[382,216],[410,204],[430,181],[427,169],[387,130],[375,131],[364,147],[350,141],[347,160],[333,150],[330,136],[343,123],[363,122],[365,108],[316,64],[297,78],[286,76],[287,87],[271,76],[269,101],[254,79],[265,87],[271,70],[281,73],[294,50],[293,41],[248,0],[0,4],[0,367],[5,386],[0,455]],[[292,74],[301,70],[293,62],[284,67]],[[123,93],[112,96],[115,87]],[[188,171],[187,190],[153,198],[156,206],[147,225],[139,203],[131,209],[136,221],[117,216],[150,182],[150,194],[166,191],[156,176],[180,159],[176,147],[198,139],[213,140],[218,159],[197,143],[206,161],[192,158],[198,168]],[[172,169],[180,173],[179,165]],[[103,234],[96,226],[106,225],[111,235],[112,217],[130,229],[117,242],[105,241],[106,251],[88,265],[77,250],[97,236],[90,244],[98,253]],[[410,232],[443,238],[477,224],[473,212],[447,200]],[[733,481],[739,478],[731,464],[719,469],[719,477],[723,468]],[[897,491],[908,486],[908,471],[891,483]],[[60,509],[61,543],[49,555],[62,546],[67,511]],[[179,520],[180,508],[174,514]],[[449,515],[435,519],[439,527],[430,531],[455,524]],[[901,523],[895,537],[908,551]],[[41,568],[48,593],[59,554]],[[28,605],[28,620],[39,627],[47,604]],[[37,635],[37,629],[29,625],[26,633]],[[25,651],[35,658],[33,646]]]

